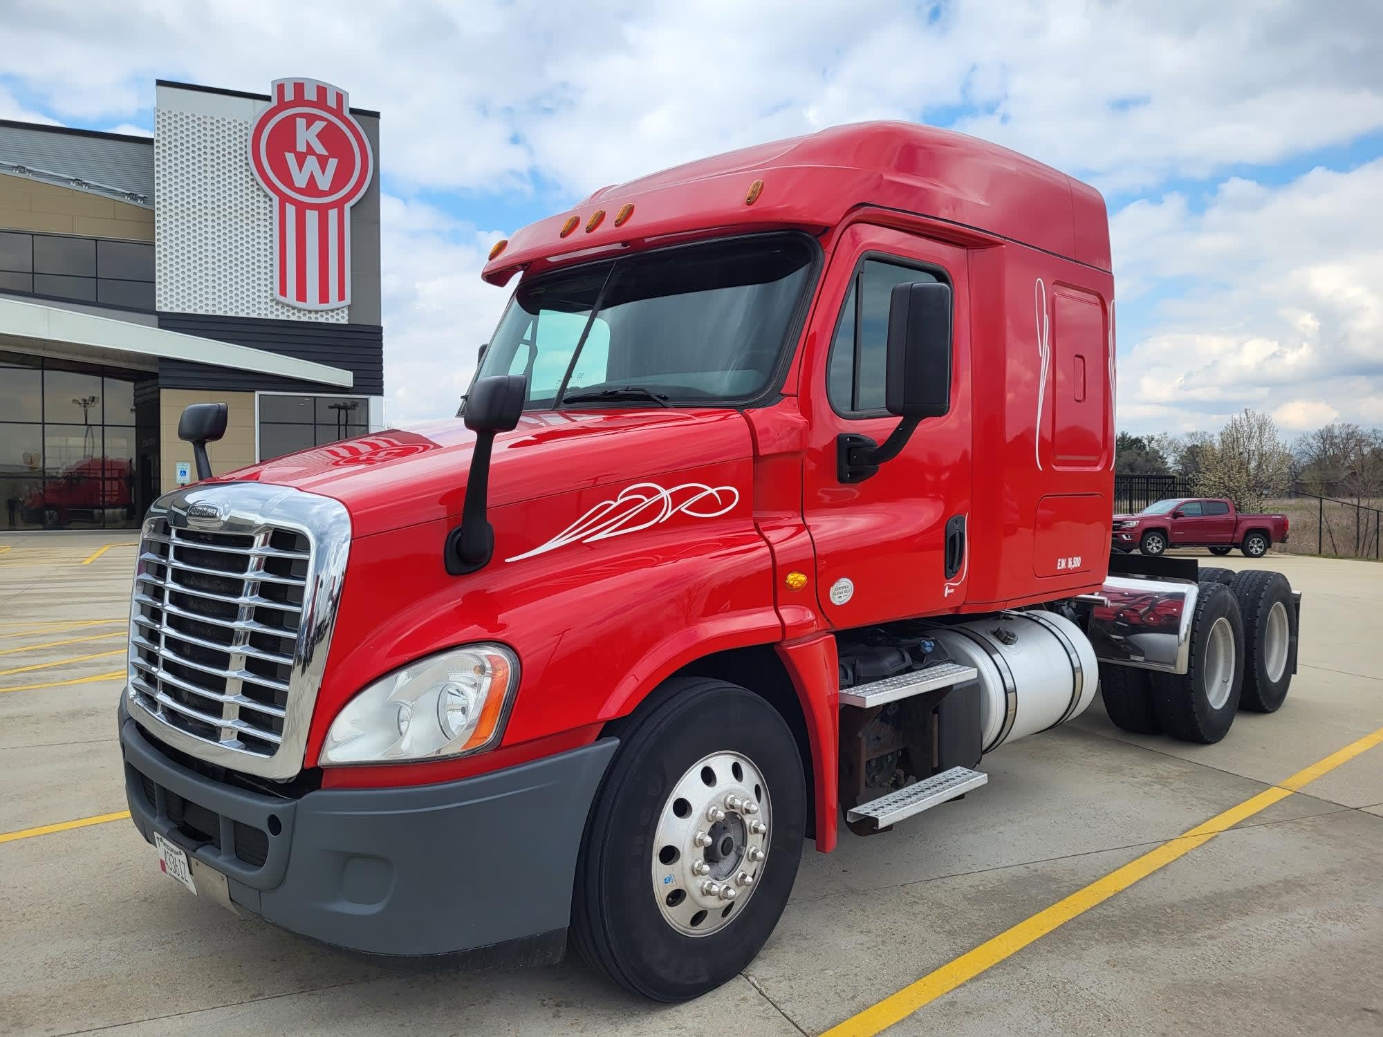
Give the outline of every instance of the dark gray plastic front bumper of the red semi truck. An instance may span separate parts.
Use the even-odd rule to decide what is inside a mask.
[[[586,813],[618,741],[461,781],[252,792],[170,759],[120,707],[136,827],[228,879],[285,929],[376,954],[560,935]],[[203,838],[205,837],[205,838]]]

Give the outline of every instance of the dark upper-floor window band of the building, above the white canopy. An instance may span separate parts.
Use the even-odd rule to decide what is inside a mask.
[[[0,292],[154,310],[154,246],[62,234],[0,232]]]

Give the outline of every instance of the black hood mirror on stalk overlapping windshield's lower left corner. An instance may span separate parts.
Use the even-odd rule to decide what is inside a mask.
[[[461,525],[447,534],[443,561],[454,577],[474,572],[490,564],[495,550],[495,530],[485,518],[485,499],[490,495],[490,455],[495,433],[509,431],[523,416],[528,379],[523,375],[492,375],[470,387],[463,419],[476,433],[476,448],[470,455],[470,476],[466,478],[466,499],[461,507]]]

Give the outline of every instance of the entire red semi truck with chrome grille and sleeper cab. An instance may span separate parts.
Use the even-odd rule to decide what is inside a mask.
[[[848,126],[597,191],[495,246],[514,277],[459,420],[151,509],[120,742],[194,892],[383,954],[570,931],[675,1001],[762,947],[805,839],[982,787],[1101,673],[1200,741],[1286,694],[1282,577],[1108,572],[1093,188]]]

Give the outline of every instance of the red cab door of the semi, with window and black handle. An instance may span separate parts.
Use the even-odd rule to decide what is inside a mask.
[[[924,419],[899,456],[862,481],[838,469],[839,438],[884,442],[888,308],[895,285],[952,288],[950,411]],[[802,512],[816,548],[817,599],[835,628],[956,608],[969,567],[971,376],[967,253],[856,224],[834,250],[812,312],[802,371],[810,419]],[[1001,376],[1001,375],[1000,375]],[[945,372],[938,372],[945,377]],[[994,477],[1000,477],[999,473]]]

